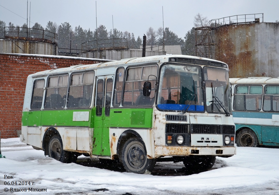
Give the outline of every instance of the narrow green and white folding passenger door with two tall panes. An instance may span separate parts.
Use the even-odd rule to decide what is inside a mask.
[[[113,75],[98,76],[95,92],[93,155],[110,156],[109,127]]]

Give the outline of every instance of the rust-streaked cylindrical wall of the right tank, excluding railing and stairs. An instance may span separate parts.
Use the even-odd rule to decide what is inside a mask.
[[[216,60],[229,65],[230,77],[278,77],[278,26],[278,23],[251,23],[217,28]]]

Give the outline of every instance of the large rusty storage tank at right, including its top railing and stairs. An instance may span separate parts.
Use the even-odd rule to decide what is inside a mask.
[[[263,22],[263,14],[211,20],[196,28],[196,47],[203,48],[197,55],[227,63],[230,77],[279,77],[278,25]]]

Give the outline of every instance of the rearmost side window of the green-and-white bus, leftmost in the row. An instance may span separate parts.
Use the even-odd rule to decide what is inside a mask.
[[[45,80],[36,80],[33,85],[31,109],[41,109],[43,102]]]

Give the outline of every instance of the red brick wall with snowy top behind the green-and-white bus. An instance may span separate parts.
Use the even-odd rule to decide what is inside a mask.
[[[78,64],[105,62],[92,58],[0,53],[1,138],[18,137],[26,79],[29,74]]]

